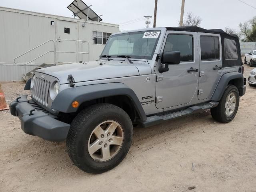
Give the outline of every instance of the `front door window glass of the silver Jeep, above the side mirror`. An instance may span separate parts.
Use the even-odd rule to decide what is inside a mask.
[[[165,51],[180,51],[180,62],[193,61],[193,37],[183,34],[169,34],[164,46]]]

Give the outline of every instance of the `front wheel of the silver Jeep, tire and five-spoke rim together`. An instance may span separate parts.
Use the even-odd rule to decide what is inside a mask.
[[[66,140],[68,155],[85,172],[106,172],[124,159],[132,134],[132,121],[124,110],[112,104],[95,104],[72,121]]]

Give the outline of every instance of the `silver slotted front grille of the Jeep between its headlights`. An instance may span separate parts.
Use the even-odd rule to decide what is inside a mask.
[[[32,98],[40,102],[44,106],[48,106],[48,96],[51,82],[40,77],[35,78]]]

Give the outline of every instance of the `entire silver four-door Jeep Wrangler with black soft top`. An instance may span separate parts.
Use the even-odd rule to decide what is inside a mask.
[[[113,34],[100,60],[42,68],[10,104],[22,130],[64,141],[89,173],[117,166],[144,127],[210,109],[230,122],[245,94],[238,36],[220,29],[164,27]],[[170,122],[171,123],[171,122]]]

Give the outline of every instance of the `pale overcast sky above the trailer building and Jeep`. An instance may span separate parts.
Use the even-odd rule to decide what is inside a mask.
[[[34,12],[72,17],[67,6],[73,0],[1,0],[0,6]],[[145,28],[143,16],[154,17],[155,0],[83,0],[98,15],[102,22],[120,24],[122,30]],[[156,27],[178,26],[182,0],[158,0]],[[200,27],[206,29],[226,26],[239,32],[238,24],[256,16],[256,0],[185,0],[184,18],[187,12],[202,19]],[[141,19],[138,19],[141,18]],[[136,20],[138,19],[138,20]],[[128,21],[133,20],[130,23]],[[150,19],[153,26],[153,18]],[[126,22],[126,23],[125,23]]]

